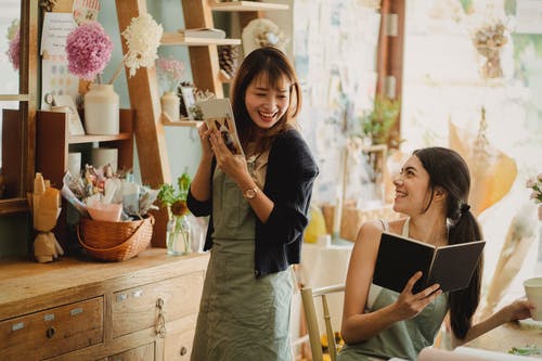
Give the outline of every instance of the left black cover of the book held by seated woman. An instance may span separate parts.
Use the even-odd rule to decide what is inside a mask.
[[[416,282],[413,293],[427,287],[427,275],[435,247],[398,234],[383,232],[376,257],[373,283],[401,293],[406,282],[416,273],[424,274]]]

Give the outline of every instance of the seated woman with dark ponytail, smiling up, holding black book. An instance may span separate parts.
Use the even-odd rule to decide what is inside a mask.
[[[530,317],[533,307],[517,300],[489,319],[473,324],[480,298],[482,260],[465,289],[442,293],[434,284],[413,294],[417,272],[401,294],[372,284],[383,231],[402,234],[436,246],[481,240],[479,225],[467,204],[470,176],[464,159],[444,147],[417,150],[395,179],[393,209],[408,218],[364,223],[353,246],[346,280],[343,337],[338,360],[398,357],[415,360],[433,345],[447,312],[453,346],[513,320]]]

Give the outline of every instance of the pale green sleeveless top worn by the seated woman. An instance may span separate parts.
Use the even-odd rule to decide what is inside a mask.
[[[389,224],[382,220],[384,230]],[[409,236],[409,219],[404,222],[402,235]],[[399,294],[371,284],[365,312],[373,312],[393,304]],[[442,294],[413,319],[393,323],[378,335],[356,345],[346,345],[338,361],[387,360],[391,357],[416,360],[420,351],[433,345],[448,311],[447,295]]]

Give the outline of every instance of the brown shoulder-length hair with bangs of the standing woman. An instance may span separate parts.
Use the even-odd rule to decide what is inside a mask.
[[[241,64],[235,75],[231,90],[231,100],[237,133],[243,147],[253,139],[258,128],[250,119],[245,105],[245,94],[250,82],[259,77],[267,76],[269,85],[273,88],[281,86],[284,78],[289,81],[288,111],[279,121],[264,132],[262,143],[267,149],[274,137],[292,127],[292,123],[301,108],[301,92],[294,66],[286,55],[276,48],[259,48],[250,52]],[[261,151],[261,150],[260,150]]]

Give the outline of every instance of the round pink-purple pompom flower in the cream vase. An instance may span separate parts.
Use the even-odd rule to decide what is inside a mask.
[[[75,28],[66,39],[68,69],[72,74],[93,80],[111,60],[113,42],[98,22]]]

